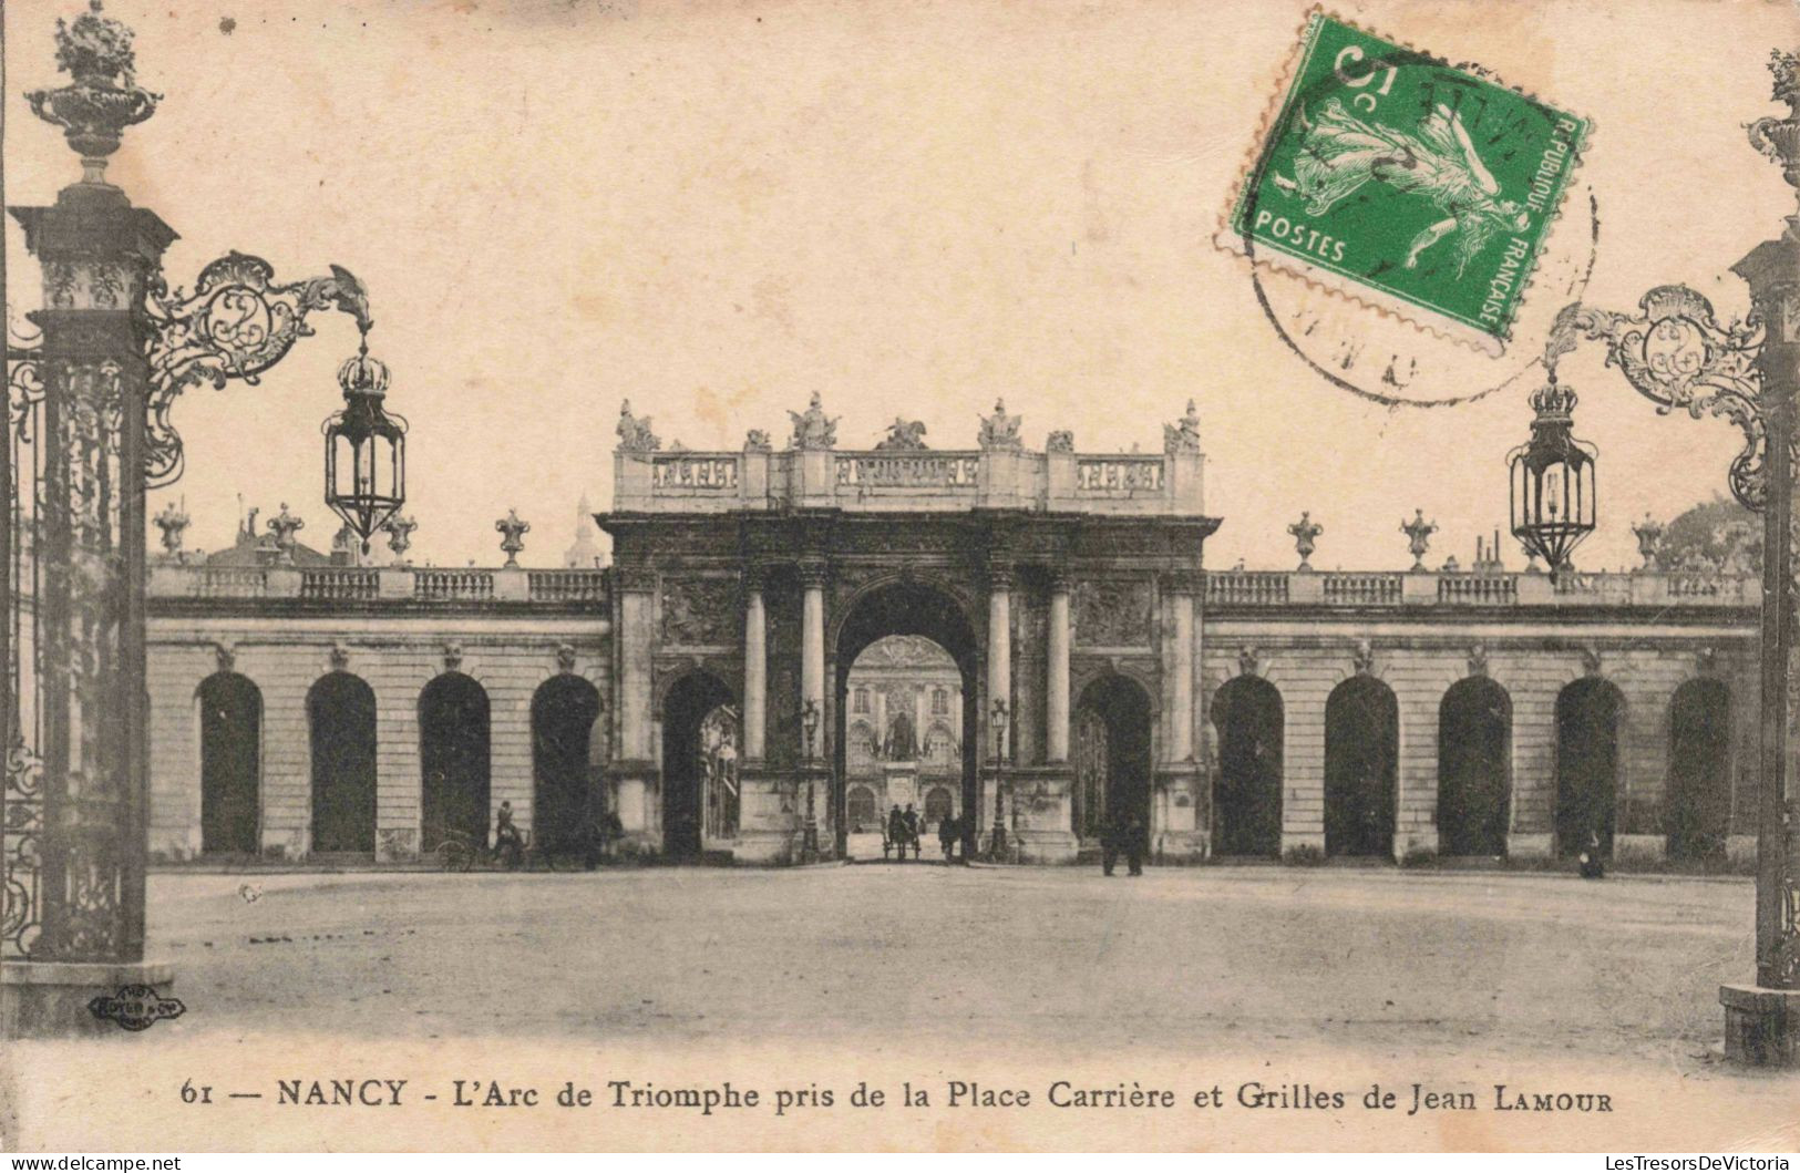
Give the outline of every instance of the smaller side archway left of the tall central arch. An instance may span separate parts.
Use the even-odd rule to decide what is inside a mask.
[[[718,676],[688,673],[662,698],[662,849],[693,858],[736,835],[736,698]]]

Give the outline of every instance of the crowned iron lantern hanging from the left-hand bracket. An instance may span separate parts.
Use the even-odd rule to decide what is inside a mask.
[[[326,504],[369,540],[407,502],[407,421],[382,408],[387,367],[369,358],[364,336],[356,356],[338,367],[344,410],[326,419]]]

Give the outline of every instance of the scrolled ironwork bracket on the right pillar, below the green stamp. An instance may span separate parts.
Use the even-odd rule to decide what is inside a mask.
[[[1643,295],[1636,315],[1566,306],[1550,331],[1544,365],[1555,383],[1557,360],[1588,336],[1606,344],[1606,363],[1618,367],[1658,414],[1679,408],[1694,419],[1723,416],[1735,423],[1744,450],[1732,461],[1732,497],[1760,513],[1768,500],[1768,444],[1757,401],[1762,335],[1755,311],[1721,324],[1701,293],[1665,284]]]

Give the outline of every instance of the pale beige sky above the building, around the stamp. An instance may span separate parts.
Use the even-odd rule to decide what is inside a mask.
[[[79,175],[20,97],[59,85],[50,29],[77,11],[5,4],[7,203]],[[1629,309],[1685,281],[1742,313],[1728,266],[1795,210],[1742,133],[1777,113],[1764,59],[1800,40],[1793,4],[1337,11],[1595,121],[1588,300]],[[522,561],[558,565],[578,498],[610,500],[621,399],[664,441],[733,450],[747,428],[785,435],[819,390],[841,448],[896,416],[972,448],[1004,396],[1028,446],[1073,428],[1082,452],[1156,452],[1192,398],[1224,518],[1208,565],[1291,567],[1301,509],[1325,525],[1319,569],[1404,569],[1413,509],[1440,525],[1431,561],[1467,563],[1505,524],[1532,372],[1447,408],[1352,396],[1280,342],[1244,261],[1211,243],[1303,13],[110,0],[166,97],[108,176],[180,232],[171,284],[230,248],[284,281],[331,263],[364,279],[412,426],[421,561],[497,565],[493,522],[517,507]],[[38,288],[7,234],[18,313]],[[239,497],[263,516],[286,502],[328,545],[319,426],[356,335],[315,324],[261,385],[176,408],[187,473],[149,504],[185,500],[189,547],[227,545]],[[1721,493],[1737,434],[1658,416],[1597,353],[1562,371],[1600,450],[1577,563],[1634,565],[1629,524]],[[1507,558],[1523,565],[1510,540]]]

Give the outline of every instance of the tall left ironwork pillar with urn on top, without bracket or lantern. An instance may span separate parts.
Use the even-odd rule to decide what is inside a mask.
[[[104,182],[119,135],[157,104],[113,49],[121,36],[130,45],[130,31],[95,13],[58,29],[72,83],[27,97],[65,128],[85,178],[58,193],[54,207],[11,209],[43,270],[43,309],[29,315],[40,353],[14,369],[41,390],[36,408],[23,396],[38,414],[31,443],[41,475],[7,471],[34,502],[34,533],[18,538],[32,542],[41,576],[27,624],[41,667],[27,660],[22,684],[36,689],[41,741],[9,754],[0,790],[0,1036],[117,1033],[88,1011],[92,998],[128,984],[162,995],[173,980],[169,966],[144,961],[144,475],[155,392],[146,344],[155,326],[133,309],[175,232]],[[23,426],[32,426],[29,416]],[[11,545],[9,529],[0,533]],[[0,734],[11,736],[18,702],[4,700]],[[22,829],[36,833],[27,840]]]

